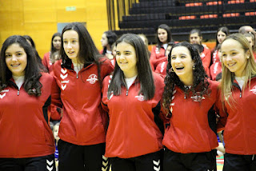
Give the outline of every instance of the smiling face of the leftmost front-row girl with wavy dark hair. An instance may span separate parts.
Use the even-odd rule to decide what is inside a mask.
[[[25,50],[18,43],[14,43],[8,46],[5,55],[6,66],[11,73],[16,77],[24,76],[27,65]]]

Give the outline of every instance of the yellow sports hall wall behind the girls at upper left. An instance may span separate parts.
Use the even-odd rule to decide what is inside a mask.
[[[28,34],[42,58],[62,22],[85,22],[101,50],[102,33],[108,30],[106,0],[0,0],[0,47],[10,35]]]

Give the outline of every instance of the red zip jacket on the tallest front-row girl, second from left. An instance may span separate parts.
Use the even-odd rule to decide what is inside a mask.
[[[63,117],[58,136],[75,145],[95,145],[105,142],[105,121],[100,102],[102,90],[98,83],[98,70],[90,64],[78,74],[54,63],[55,81],[52,103],[62,107]],[[101,78],[113,71],[110,60],[102,58]]]

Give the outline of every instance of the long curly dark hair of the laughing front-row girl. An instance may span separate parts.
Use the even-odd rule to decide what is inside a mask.
[[[194,62],[194,70],[193,70],[193,85],[187,90],[183,84],[183,82],[178,78],[178,75],[171,69],[171,53],[175,47],[184,46],[190,51],[191,58]],[[174,87],[177,85],[180,89],[182,89],[186,94],[191,91],[193,96],[203,96],[204,94],[209,94],[210,90],[209,82],[207,81],[207,74],[202,66],[202,60],[198,53],[198,50],[195,49],[189,42],[180,42],[175,44],[170,50],[170,54],[168,55],[168,64],[166,67],[166,78],[165,78],[165,89],[163,92],[163,107],[166,111],[170,109],[170,103],[172,101]]]

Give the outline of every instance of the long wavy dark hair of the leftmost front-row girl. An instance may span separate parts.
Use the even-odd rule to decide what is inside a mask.
[[[0,90],[10,85],[12,73],[6,66],[6,49],[15,43],[21,46],[26,52],[27,64],[25,68],[24,89],[30,95],[40,96],[42,84],[39,82],[39,78],[41,78],[42,74],[40,73],[38,62],[29,42],[26,42],[26,38],[19,35],[10,36],[2,44],[0,56]]]

